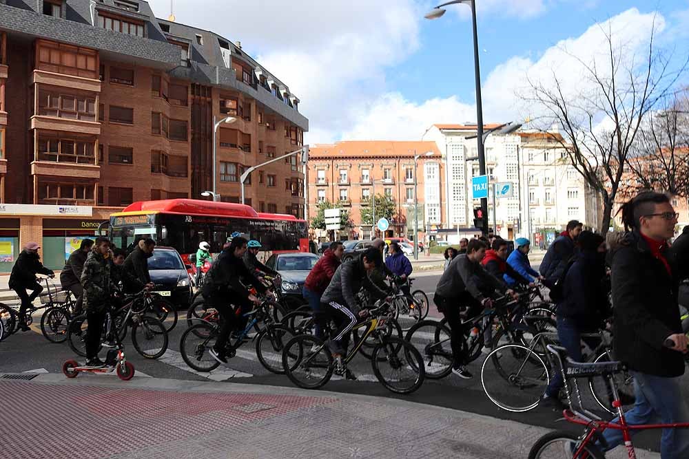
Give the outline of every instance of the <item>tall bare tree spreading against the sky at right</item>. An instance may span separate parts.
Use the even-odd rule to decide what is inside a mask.
[[[542,131],[566,149],[573,167],[601,196],[600,229],[605,234],[641,121],[672,92],[686,63],[680,70],[670,70],[670,59],[655,48],[655,26],[640,59],[615,43],[609,27],[602,31],[604,59],[585,62],[564,50],[584,75],[576,88],[566,87],[553,69],[547,83],[528,78],[528,93],[522,98],[545,112],[539,117],[544,122]],[[553,125],[562,136],[548,130]]]

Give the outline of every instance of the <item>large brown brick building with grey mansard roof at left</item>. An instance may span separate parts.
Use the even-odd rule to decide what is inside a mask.
[[[302,145],[298,104],[240,43],[156,19],[145,1],[0,0],[3,204],[88,207],[99,221],[138,200],[202,199],[214,117],[227,116],[236,120],[217,131],[216,192],[239,202],[245,168]],[[297,160],[252,174],[246,204],[303,217]],[[8,213],[19,217],[11,224],[0,211],[0,238],[46,237],[32,209],[30,219]]]

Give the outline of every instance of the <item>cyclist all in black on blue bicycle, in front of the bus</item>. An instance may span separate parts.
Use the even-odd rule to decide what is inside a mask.
[[[218,255],[203,284],[205,301],[209,306],[216,308],[223,319],[216,343],[210,350],[213,358],[220,363],[227,363],[227,340],[239,323],[237,314],[229,304],[230,301],[238,306],[240,314],[249,312],[254,304],[260,303],[242,282],[251,284],[261,294],[267,292],[265,286],[245,266],[243,256],[246,251],[247,239],[233,237],[229,246]]]

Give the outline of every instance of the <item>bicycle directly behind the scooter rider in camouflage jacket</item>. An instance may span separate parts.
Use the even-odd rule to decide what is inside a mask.
[[[111,324],[115,324],[117,338],[123,341],[127,336],[127,327],[132,327],[132,344],[136,352],[146,359],[159,359],[167,351],[168,335],[165,326],[156,317],[145,314],[147,303],[141,301],[150,295],[146,289],[134,295],[124,295],[123,306],[105,314],[105,327],[101,348],[109,339],[106,334]],[[143,307],[142,307],[143,306]],[[85,331],[88,329],[86,314],[74,317],[67,332],[67,342],[75,354],[86,356]]]

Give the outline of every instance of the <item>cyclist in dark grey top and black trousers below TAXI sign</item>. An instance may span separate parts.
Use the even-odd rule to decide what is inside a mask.
[[[508,290],[504,283],[486,273],[481,266],[481,261],[486,255],[486,247],[486,242],[471,239],[466,246],[466,254],[457,255],[442,273],[433,296],[435,305],[450,326],[452,372],[463,379],[473,378],[466,368],[469,350],[464,340],[465,332],[469,332],[465,328],[471,327],[471,324],[462,325],[460,313],[463,309],[468,309],[466,316],[474,317],[482,308],[490,308],[493,303],[490,297],[484,295],[486,290],[513,295],[512,290]]]

